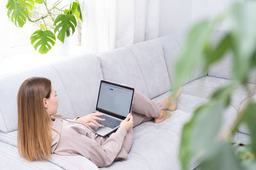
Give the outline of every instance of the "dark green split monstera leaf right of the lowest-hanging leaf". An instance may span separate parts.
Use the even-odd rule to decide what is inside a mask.
[[[72,29],[72,34],[74,34],[77,22],[76,22],[76,18],[74,17],[74,15],[61,14],[61,15],[58,15],[56,20],[54,20],[54,25],[56,25],[56,27],[54,29],[54,33],[59,31],[58,39],[60,39],[60,41],[62,43],[64,43],[65,35],[67,35],[67,37],[70,35],[70,28]]]

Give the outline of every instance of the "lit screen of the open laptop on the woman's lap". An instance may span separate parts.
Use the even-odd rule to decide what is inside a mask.
[[[133,90],[102,82],[96,108],[127,117],[132,97]]]

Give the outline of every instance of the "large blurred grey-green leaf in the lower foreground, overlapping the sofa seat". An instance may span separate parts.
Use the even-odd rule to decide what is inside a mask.
[[[179,153],[182,169],[188,169],[193,163],[191,159],[200,158],[216,145],[224,109],[222,101],[209,101],[196,109],[191,120],[184,125]]]

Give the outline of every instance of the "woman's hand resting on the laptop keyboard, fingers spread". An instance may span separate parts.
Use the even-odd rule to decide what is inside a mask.
[[[96,112],[96,113],[91,113],[90,115],[86,115],[84,117],[80,117],[80,118],[77,118],[77,122],[81,122],[83,124],[86,124],[88,126],[91,126],[91,127],[94,127],[95,124],[98,125],[99,127],[102,127],[102,125],[100,125],[96,120],[101,120],[101,121],[104,121],[105,119],[104,118],[99,118],[97,116],[102,116],[104,115],[103,113],[99,113],[99,112]],[[92,122],[93,124],[90,124],[90,122]]]

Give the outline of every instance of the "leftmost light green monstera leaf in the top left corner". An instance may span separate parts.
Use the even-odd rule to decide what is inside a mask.
[[[7,15],[17,27],[23,27],[26,23],[27,13],[23,8],[22,1],[20,0],[8,0],[6,5],[8,9]]]

